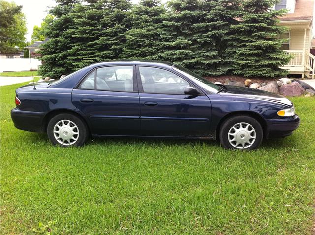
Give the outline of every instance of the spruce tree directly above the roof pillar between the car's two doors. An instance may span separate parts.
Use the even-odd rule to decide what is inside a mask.
[[[122,59],[158,59],[159,30],[165,7],[159,0],[141,0],[131,11],[132,28],[126,32]]]

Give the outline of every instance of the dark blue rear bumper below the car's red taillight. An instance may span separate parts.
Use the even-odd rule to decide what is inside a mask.
[[[42,125],[45,113],[34,111],[21,111],[18,108],[11,110],[11,119],[14,126],[20,130],[44,132]]]

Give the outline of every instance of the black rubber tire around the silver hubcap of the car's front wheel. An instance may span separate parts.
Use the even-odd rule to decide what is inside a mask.
[[[250,124],[250,126],[248,127],[250,131],[252,131],[252,129],[254,129],[254,132],[253,134],[250,133],[250,135],[254,135],[255,134],[255,139],[252,138],[252,136],[250,136],[248,138],[248,140],[252,143],[246,143],[244,142],[244,146],[243,143],[240,143],[239,145],[237,145],[237,142],[236,141],[232,141],[234,138],[233,135],[234,133],[236,133],[236,136],[238,136],[240,139],[241,136],[244,136],[244,135],[238,135],[237,133],[240,133],[240,132],[237,132],[235,131],[234,133],[232,134],[229,134],[229,131],[232,130],[231,128],[233,126],[236,125],[237,126],[240,126],[241,125],[238,125],[239,123],[247,123],[247,124]],[[243,127],[246,127],[247,125],[246,124],[243,124],[242,125]],[[235,130],[235,129],[234,129]],[[233,131],[233,130],[232,130]],[[242,134],[242,133],[240,133]],[[247,135],[248,133],[245,133],[245,137],[243,138],[247,138]],[[229,141],[229,137],[231,139],[231,142],[233,143],[233,145],[230,143]],[[221,128],[220,128],[220,131],[219,131],[219,139],[220,139],[220,142],[222,144],[223,147],[227,148],[227,149],[245,149],[245,150],[252,150],[252,149],[256,149],[257,147],[260,146],[262,140],[263,140],[263,130],[262,130],[262,127],[260,125],[260,123],[255,119],[255,118],[252,118],[252,117],[249,117],[249,116],[245,116],[245,115],[239,115],[239,116],[233,116],[231,118],[228,118],[226,119],[223,124],[221,125]],[[237,145],[235,147],[235,145]]]

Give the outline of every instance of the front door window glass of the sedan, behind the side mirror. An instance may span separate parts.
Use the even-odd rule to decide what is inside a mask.
[[[184,95],[189,86],[184,79],[164,69],[139,66],[139,72],[145,93]]]

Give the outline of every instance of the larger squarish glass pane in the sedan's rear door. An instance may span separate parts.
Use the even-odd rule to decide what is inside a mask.
[[[96,71],[96,89],[133,92],[132,79],[132,66],[112,66],[98,68]]]

